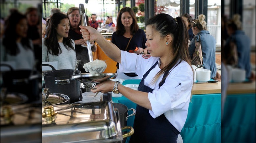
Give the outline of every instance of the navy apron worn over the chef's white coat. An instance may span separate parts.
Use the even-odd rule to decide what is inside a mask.
[[[138,90],[143,92],[153,92],[148,86],[144,85],[144,79],[149,72],[158,64],[156,62],[143,76],[139,84]],[[164,73],[165,77],[169,71]],[[165,79],[159,83],[159,88],[164,84]],[[166,119],[164,114],[157,118],[153,118],[149,114],[149,110],[136,106],[136,115],[134,119],[134,134],[131,136],[130,143],[176,143],[180,132]]]

